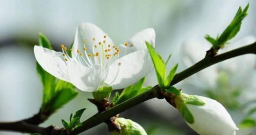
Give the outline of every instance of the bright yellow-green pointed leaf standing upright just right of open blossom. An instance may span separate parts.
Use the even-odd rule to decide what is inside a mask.
[[[161,56],[155,50],[155,48],[148,42],[146,42],[146,45],[148,47],[150,56],[152,58],[152,61],[153,61],[153,64],[154,64],[154,67],[155,67],[155,70],[156,70],[156,74],[157,74],[157,78],[158,78],[158,84],[159,84],[160,87],[163,87],[165,74],[166,74],[165,64],[164,64]]]

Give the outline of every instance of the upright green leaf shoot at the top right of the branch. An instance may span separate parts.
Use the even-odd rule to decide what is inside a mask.
[[[209,35],[205,36],[205,39],[209,41],[214,49],[218,49],[218,47],[223,48],[224,45],[231,40],[235,35],[239,32],[241,28],[241,24],[243,19],[247,16],[247,12],[249,9],[249,3],[247,6],[244,8],[244,10],[239,7],[238,11],[236,12],[235,17],[233,20],[230,22],[230,24],[225,28],[221,36],[217,36],[216,39],[212,38]]]

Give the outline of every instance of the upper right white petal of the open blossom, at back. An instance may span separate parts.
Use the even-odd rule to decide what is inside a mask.
[[[145,41],[149,42],[155,47],[156,33],[153,28],[144,29],[128,40],[128,45],[119,45],[120,57],[125,56],[131,52],[147,49]],[[131,45],[131,46],[130,46]]]

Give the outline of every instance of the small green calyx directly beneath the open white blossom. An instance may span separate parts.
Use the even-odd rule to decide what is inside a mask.
[[[93,92],[94,99],[101,101],[104,98],[109,98],[112,91],[112,87],[103,86]]]

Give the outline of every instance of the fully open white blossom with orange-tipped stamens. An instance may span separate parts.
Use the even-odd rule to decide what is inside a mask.
[[[145,41],[155,46],[155,31],[144,29],[124,45],[114,45],[110,37],[92,23],[80,23],[71,49],[63,52],[34,46],[37,62],[55,77],[70,82],[83,91],[96,91],[102,86],[122,89],[145,77],[151,67]]]

